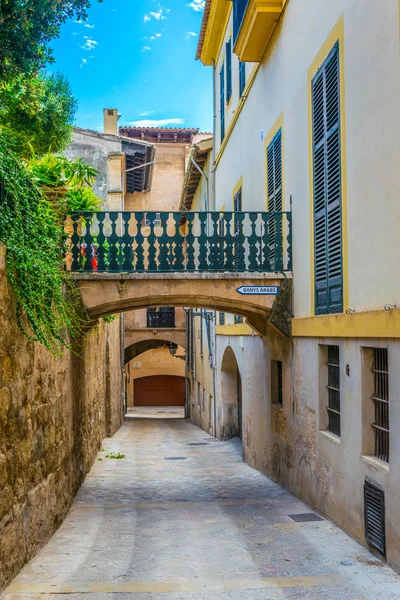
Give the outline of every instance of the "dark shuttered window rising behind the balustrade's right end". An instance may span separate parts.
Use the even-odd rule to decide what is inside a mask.
[[[267,147],[268,211],[282,212],[282,130],[280,129]],[[271,217],[268,221],[269,260],[275,268],[275,256],[282,248],[282,219]]]

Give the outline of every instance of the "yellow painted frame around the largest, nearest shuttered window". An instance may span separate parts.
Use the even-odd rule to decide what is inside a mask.
[[[347,160],[346,160],[346,103],[344,73],[344,17],[340,17],[332,29],[328,39],[318,52],[308,69],[308,147],[309,147],[309,179],[310,179],[310,279],[311,279],[311,315],[315,314],[315,272],[314,272],[314,183],[313,183],[313,147],[312,147],[312,94],[311,82],[318,69],[339,42],[340,68],[340,146],[342,170],[342,246],[343,246],[343,310],[349,306],[348,290],[348,245],[347,245]]]

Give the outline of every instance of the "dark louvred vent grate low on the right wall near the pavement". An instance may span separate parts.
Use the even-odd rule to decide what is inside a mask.
[[[376,485],[364,483],[365,539],[386,556],[385,493]]]

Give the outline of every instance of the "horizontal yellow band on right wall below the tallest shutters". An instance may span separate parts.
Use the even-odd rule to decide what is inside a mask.
[[[400,338],[400,309],[299,317],[293,337]]]

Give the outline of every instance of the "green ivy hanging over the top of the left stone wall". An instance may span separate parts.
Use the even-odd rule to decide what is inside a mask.
[[[60,354],[83,324],[69,297],[72,281],[63,269],[63,220],[10,152],[4,134],[0,134],[0,203],[0,241],[7,249],[18,325],[29,339]]]

